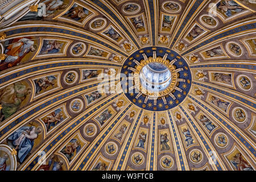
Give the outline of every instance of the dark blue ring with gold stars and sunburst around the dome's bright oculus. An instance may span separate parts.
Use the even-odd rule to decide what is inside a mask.
[[[131,57],[134,57],[134,59],[131,60]],[[146,77],[145,75],[142,77],[139,75],[142,73],[142,69],[149,66],[150,63],[154,63],[151,64],[151,67],[152,65],[160,66],[159,68],[153,66],[151,68],[153,71],[163,69],[171,73],[168,76],[169,82],[167,82],[166,87],[160,91],[158,89],[148,90],[139,79]],[[125,67],[125,65],[128,67]],[[129,88],[125,96],[135,105],[145,110],[163,111],[172,109],[187,97],[191,88],[191,84],[187,83],[187,80],[191,81],[192,79],[187,62],[179,53],[168,48],[147,47],[135,51],[123,63],[121,73],[129,75],[126,82],[130,85],[124,84],[126,88]],[[155,73],[158,74],[161,71]]]

